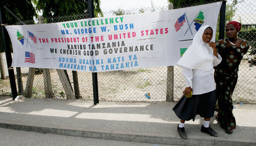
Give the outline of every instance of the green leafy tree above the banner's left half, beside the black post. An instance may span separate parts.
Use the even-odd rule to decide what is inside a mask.
[[[103,16],[99,7],[100,0],[93,0],[94,15]],[[87,0],[38,0],[36,9],[43,11],[44,17],[59,17],[74,14],[88,13]]]

